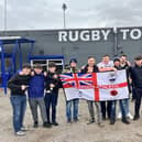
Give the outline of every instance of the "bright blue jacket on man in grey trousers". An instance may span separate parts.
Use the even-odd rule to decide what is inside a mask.
[[[35,74],[30,79],[29,98],[44,97],[45,77],[43,74]]]

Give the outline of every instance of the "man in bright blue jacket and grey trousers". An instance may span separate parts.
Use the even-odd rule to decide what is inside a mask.
[[[30,79],[30,87],[29,87],[29,103],[33,116],[34,128],[39,127],[37,106],[40,107],[41,110],[43,127],[44,128],[51,127],[47,123],[47,118],[46,118],[46,109],[44,102],[45,76],[43,75],[42,72],[43,67],[41,65],[34,66],[34,70],[32,72],[32,76]]]

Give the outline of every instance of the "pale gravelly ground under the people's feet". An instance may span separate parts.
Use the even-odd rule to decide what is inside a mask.
[[[133,110],[133,102],[131,102]],[[133,111],[131,111],[133,113]],[[29,131],[23,138],[14,136],[11,124],[11,106],[9,96],[0,94],[0,142],[142,142],[142,119],[130,125],[123,124],[120,120],[114,125],[105,121],[105,128],[99,128],[96,123],[87,125],[88,109],[86,101],[81,100],[79,105],[79,122],[67,124],[65,118],[65,98],[59,94],[57,106],[57,121],[59,127],[51,129],[33,129],[32,117],[28,106],[25,114],[25,125]],[[41,120],[41,119],[40,119]]]

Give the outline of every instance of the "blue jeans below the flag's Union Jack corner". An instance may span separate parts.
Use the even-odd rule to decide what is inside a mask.
[[[67,121],[72,120],[72,105],[73,105],[73,119],[74,120],[78,119],[78,103],[79,103],[79,99],[73,99],[73,100],[66,101]]]

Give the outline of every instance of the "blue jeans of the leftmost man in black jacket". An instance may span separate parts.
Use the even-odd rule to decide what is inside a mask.
[[[23,127],[23,119],[26,109],[26,96],[11,96],[10,101],[13,109],[13,128],[18,132]]]

